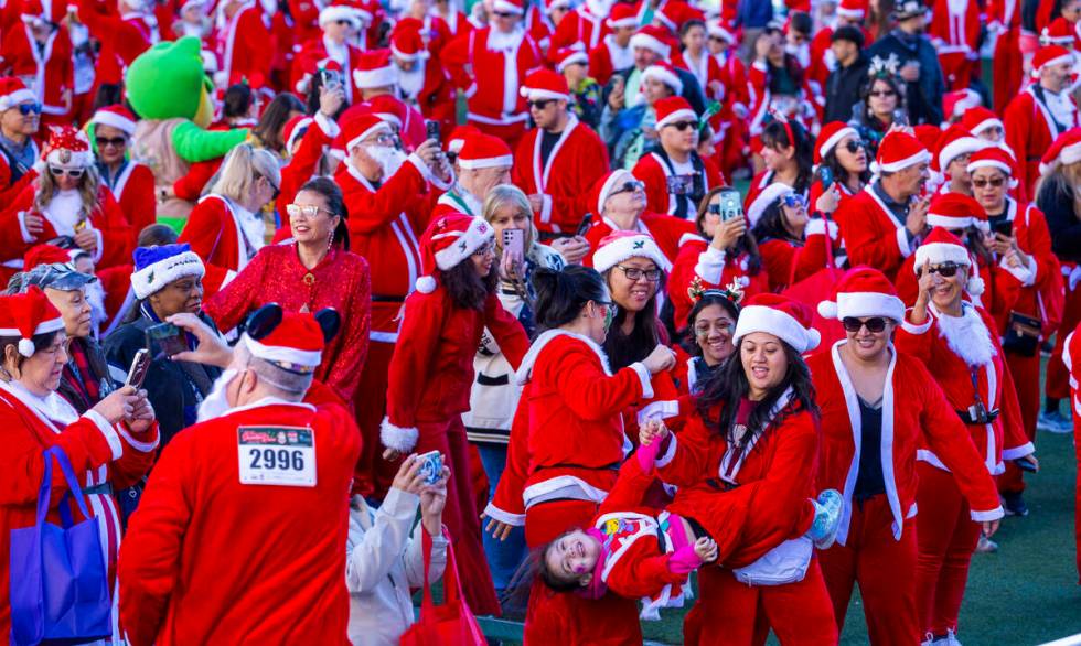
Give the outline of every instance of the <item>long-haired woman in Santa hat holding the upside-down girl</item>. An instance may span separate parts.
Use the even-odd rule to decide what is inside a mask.
[[[764,643],[770,628],[785,645],[837,643],[830,595],[803,537],[814,521],[806,499],[818,454],[817,406],[800,356],[818,343],[811,319],[810,308],[785,297],[752,297],[736,324],[738,360],[709,380],[700,414],[661,448],[659,475],[679,487],[667,509],[718,546],[719,567],[698,570],[686,644]],[[767,553],[793,568],[786,575],[767,568]]]

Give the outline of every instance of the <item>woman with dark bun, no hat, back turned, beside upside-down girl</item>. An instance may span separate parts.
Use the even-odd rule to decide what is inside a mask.
[[[651,375],[675,358],[657,345],[642,362],[612,374],[601,344],[614,305],[601,277],[570,266],[538,270],[537,324],[545,329],[522,360],[524,383],[506,471],[484,514],[488,528],[505,536],[525,525],[538,547],[568,529],[587,526],[616,483],[628,450],[621,413],[650,397]],[[622,639],[612,640],[616,636]],[[641,644],[634,600],[612,594],[590,600],[556,593],[537,580],[529,594],[526,643]]]

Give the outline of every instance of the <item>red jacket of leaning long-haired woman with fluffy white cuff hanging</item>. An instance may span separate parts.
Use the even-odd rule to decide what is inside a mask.
[[[387,417],[381,431],[386,446],[408,451],[419,437],[418,424],[446,422],[469,410],[473,357],[485,327],[517,368],[529,340],[497,294],[488,295],[483,311],[456,305],[442,284],[406,298],[402,343],[394,346],[387,376]]]

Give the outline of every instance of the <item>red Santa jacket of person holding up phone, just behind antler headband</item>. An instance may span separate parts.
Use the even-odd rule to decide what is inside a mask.
[[[724,289],[736,282],[748,298],[760,292],[770,291],[769,273],[763,265],[758,273],[749,271],[750,256],[740,254],[734,256],[718,251],[705,238],[693,236],[679,247],[679,255],[672,267],[668,277],[668,298],[675,308],[676,330],[685,330],[687,316],[694,308],[688,289],[697,279],[703,289]]]

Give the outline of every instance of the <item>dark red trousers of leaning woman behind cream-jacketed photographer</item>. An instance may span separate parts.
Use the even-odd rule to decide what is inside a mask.
[[[454,542],[458,569],[462,572],[462,589],[470,610],[479,615],[499,615],[500,602],[495,596],[492,573],[484,558],[481,540],[480,512],[473,496],[473,477],[469,466],[469,440],[460,414],[446,422],[418,422],[420,439],[417,453],[439,451],[450,466],[447,483],[447,506],[443,524]]]

